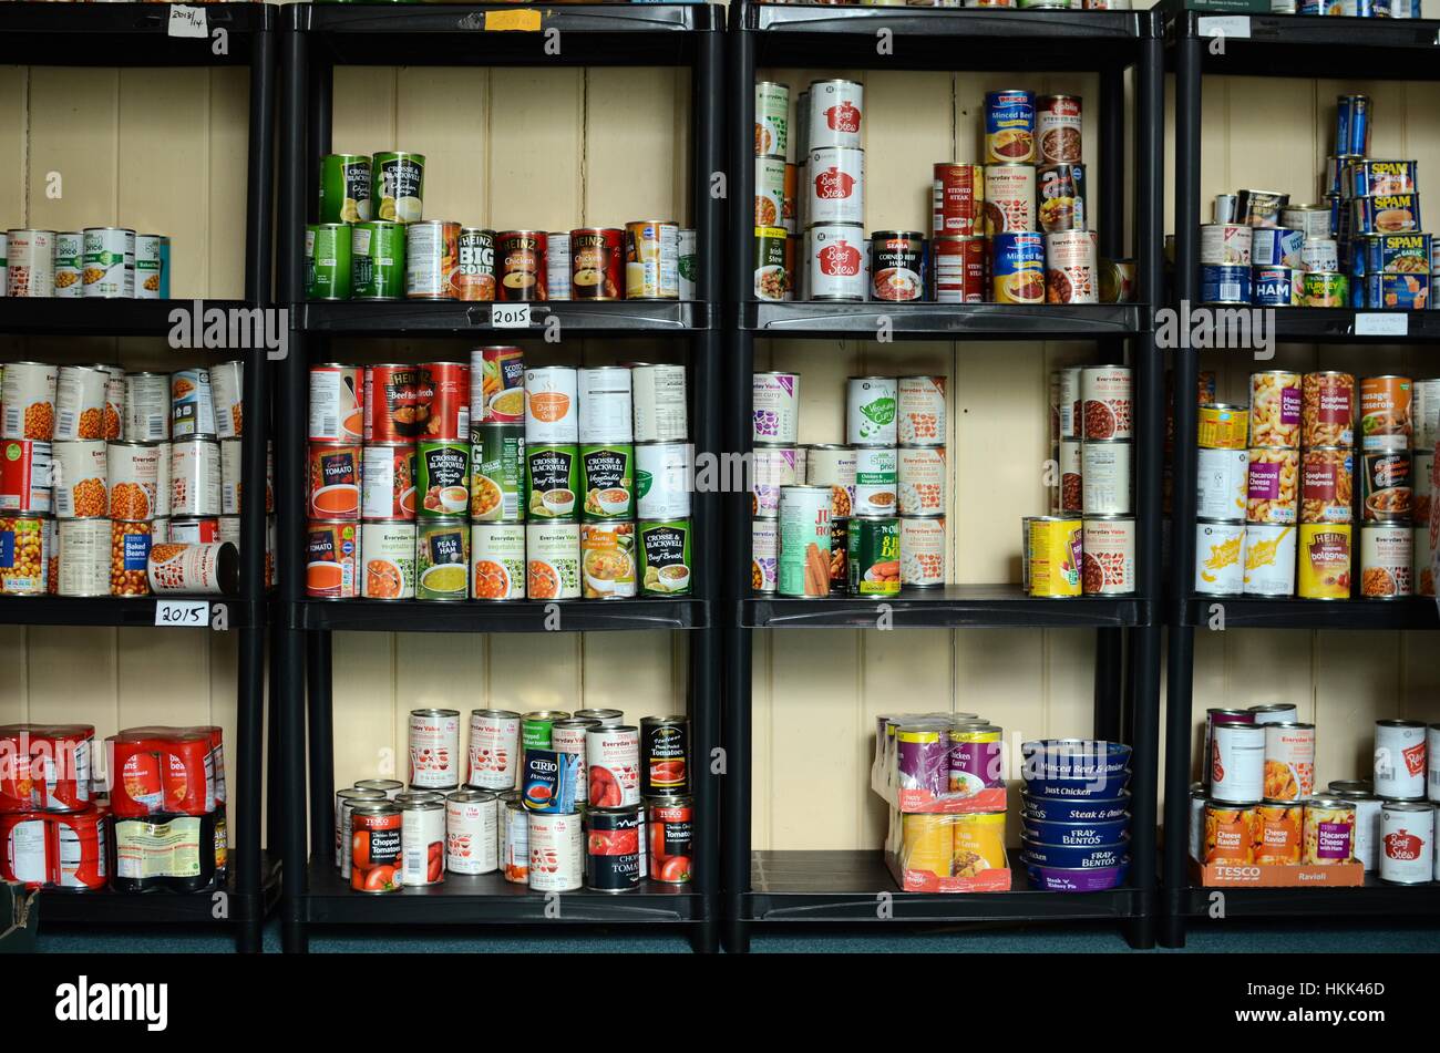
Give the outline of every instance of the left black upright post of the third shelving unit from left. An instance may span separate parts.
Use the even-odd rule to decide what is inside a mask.
[[[726,400],[724,437],[729,452],[750,450],[750,386],[755,338],[740,328],[740,304],[753,298],[749,263],[753,259],[753,230],[749,222],[755,197],[755,35],[744,30],[746,4],[730,6],[729,105],[729,200],[730,229],[726,239],[729,265],[724,332],[729,344],[723,390]],[[749,463],[749,457],[746,457]],[[724,597],[717,606],[724,626],[724,947],[732,954],[750,948],[750,926],[744,919],[744,896],[750,890],[750,630],[740,624],[740,601],[750,591],[750,499],[744,492],[724,499]]]

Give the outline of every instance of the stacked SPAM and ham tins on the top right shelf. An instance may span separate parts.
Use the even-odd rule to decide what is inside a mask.
[[[1369,157],[1374,104],[1336,99],[1325,204],[1290,204],[1276,190],[1215,199],[1200,230],[1201,298],[1256,306],[1426,308],[1440,273],[1423,233],[1416,161]]]

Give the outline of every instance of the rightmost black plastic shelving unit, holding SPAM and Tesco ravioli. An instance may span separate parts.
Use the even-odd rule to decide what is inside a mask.
[[[1241,29],[1237,29],[1243,26]],[[1224,47],[1211,49],[1217,27]],[[1244,33],[1248,33],[1246,36]],[[1176,12],[1166,30],[1166,58],[1175,70],[1175,285],[1176,304],[1200,302],[1201,85],[1205,75],[1333,79],[1440,79],[1436,46],[1440,22],[1251,14],[1210,20]],[[1356,335],[1356,318],[1403,316],[1407,334]],[[1300,344],[1431,344],[1440,338],[1434,311],[1349,311],[1290,308],[1274,312],[1276,337]],[[1362,328],[1364,322],[1362,322]],[[1174,352],[1175,391],[1195,391],[1200,354]],[[1440,883],[1400,888],[1367,879],[1355,889],[1201,889],[1191,885],[1189,772],[1194,705],[1195,629],[1208,630],[1210,613],[1224,610],[1225,629],[1436,629],[1433,600],[1306,601],[1197,596],[1195,479],[1198,421],[1194,398],[1175,398],[1175,469],[1171,578],[1166,621],[1165,853],[1161,942],[1181,947],[1188,918],[1205,916],[1210,893],[1224,892],[1227,916],[1305,915],[1313,918],[1411,916],[1434,913]],[[1358,550],[1355,557],[1358,560]],[[1358,580],[1358,575],[1352,574]]]

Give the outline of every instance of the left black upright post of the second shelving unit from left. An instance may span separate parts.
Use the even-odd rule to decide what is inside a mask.
[[[310,4],[282,9],[281,33],[281,201],[279,201],[279,301],[295,312],[304,309],[305,200],[305,86],[308,83]],[[294,315],[292,315],[294,321]],[[305,472],[300,452],[305,434],[305,341],[302,327],[292,324],[289,354],[276,377],[275,407],[275,501],[276,575],[281,608],[274,633],[274,657],[279,666],[279,738],[282,752],[282,797],[285,816],[281,941],[287,952],[304,952],[305,885],[310,857],[305,837],[305,652],[298,624],[304,597]]]

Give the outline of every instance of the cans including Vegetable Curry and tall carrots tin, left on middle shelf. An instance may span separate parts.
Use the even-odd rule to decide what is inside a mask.
[[[757,593],[884,598],[945,584],[945,383],[851,377],[845,443],[801,446],[799,374],[755,374]]]

